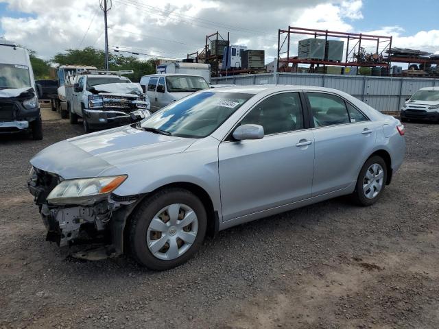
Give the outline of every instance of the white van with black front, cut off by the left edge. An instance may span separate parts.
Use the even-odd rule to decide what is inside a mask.
[[[0,39],[0,133],[29,131],[42,139],[40,94],[27,49]]]

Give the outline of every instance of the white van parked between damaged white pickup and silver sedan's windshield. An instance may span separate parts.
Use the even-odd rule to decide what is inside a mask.
[[[200,75],[176,73],[144,75],[140,84],[143,92],[150,97],[151,112],[198,90],[209,88],[209,84]]]

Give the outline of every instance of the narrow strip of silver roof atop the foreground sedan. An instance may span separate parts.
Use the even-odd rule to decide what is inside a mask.
[[[213,84],[215,86],[215,84]],[[211,91],[213,93],[243,93],[243,94],[259,94],[263,92],[276,91],[288,91],[288,90],[315,90],[315,91],[327,91],[329,93],[340,94],[340,90],[324,87],[314,87],[314,86],[296,86],[287,84],[260,84],[260,85],[248,85],[248,86],[231,86],[222,88],[211,88],[202,90],[202,92]]]

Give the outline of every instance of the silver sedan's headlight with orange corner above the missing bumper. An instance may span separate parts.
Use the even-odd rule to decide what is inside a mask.
[[[95,204],[122,184],[127,175],[63,180],[47,197],[49,204]]]

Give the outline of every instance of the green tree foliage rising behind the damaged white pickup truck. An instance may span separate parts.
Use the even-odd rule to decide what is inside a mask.
[[[105,52],[93,47],[84,49],[67,49],[64,53],[57,53],[52,62],[60,65],[86,65],[104,69]],[[110,71],[133,70],[134,74],[126,75],[132,82],[139,82],[142,75],[156,73],[154,60],[141,61],[135,56],[123,56],[110,53],[108,58]]]

